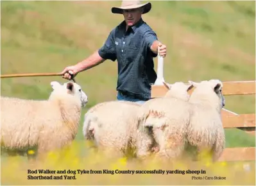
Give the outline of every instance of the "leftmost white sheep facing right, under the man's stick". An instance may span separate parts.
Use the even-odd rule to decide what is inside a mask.
[[[48,100],[1,97],[1,146],[37,147],[40,154],[73,141],[88,97],[77,83],[52,81],[51,86]]]

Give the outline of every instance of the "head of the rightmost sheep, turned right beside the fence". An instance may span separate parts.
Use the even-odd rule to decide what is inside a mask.
[[[218,110],[225,106],[225,97],[222,94],[223,83],[220,80],[201,81],[200,83],[189,81],[189,83],[196,88],[190,100],[204,99],[215,105],[218,103],[218,108],[220,108]]]

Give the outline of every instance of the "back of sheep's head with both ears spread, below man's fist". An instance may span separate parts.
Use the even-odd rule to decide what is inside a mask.
[[[175,82],[173,84],[169,84],[163,82],[164,86],[167,87],[168,91],[164,97],[173,97],[182,99],[184,101],[189,100],[188,91],[194,87],[191,83],[183,83],[183,82]]]

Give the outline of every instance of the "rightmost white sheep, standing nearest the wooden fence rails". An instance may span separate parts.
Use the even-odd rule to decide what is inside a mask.
[[[198,151],[210,149],[212,160],[217,160],[225,148],[225,131],[221,109],[225,106],[223,83],[219,80],[189,81],[196,89],[191,94],[191,117],[187,140]]]

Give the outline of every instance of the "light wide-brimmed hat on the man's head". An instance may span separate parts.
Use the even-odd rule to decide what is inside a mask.
[[[141,1],[122,1],[121,7],[112,7],[112,13],[123,14],[123,10],[144,7],[144,13],[148,13],[151,10],[151,3],[141,4]]]

